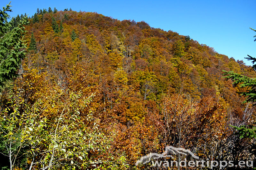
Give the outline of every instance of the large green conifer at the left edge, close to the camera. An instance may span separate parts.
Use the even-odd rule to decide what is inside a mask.
[[[27,24],[27,16],[12,28],[12,21],[7,21],[10,18],[7,11],[12,11],[10,3],[0,11],[0,85],[17,76],[21,59],[25,57],[23,49],[26,48],[22,35],[26,32],[23,25]]]

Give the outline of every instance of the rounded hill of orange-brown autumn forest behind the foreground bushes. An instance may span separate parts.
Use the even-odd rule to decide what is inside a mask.
[[[102,100],[111,107],[140,103],[142,109],[149,101],[159,103],[166,94],[182,90],[195,100],[219,95],[221,104],[233,110],[244,99],[236,93],[239,89],[222,78],[222,70],[255,77],[243,61],[144,21],[67,9],[43,13],[35,14],[26,26],[28,47],[35,50],[29,51],[24,63],[46,71],[51,83],[63,87],[68,85],[65,78],[70,68],[86,66],[84,71],[100,85]],[[36,45],[31,44],[32,33]],[[143,115],[126,117],[126,122],[135,117]]]

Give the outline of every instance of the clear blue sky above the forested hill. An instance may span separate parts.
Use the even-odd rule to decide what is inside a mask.
[[[0,6],[10,1],[1,0]],[[65,0],[13,0],[10,15],[24,14],[32,16],[36,9],[57,8],[58,11],[71,8],[73,11],[97,12],[105,16],[136,22],[144,20],[151,27],[172,30],[200,44],[213,47],[218,53],[251,62],[244,59],[248,55],[256,57],[256,0],[159,0],[159,1],[65,1]],[[253,12],[254,11],[254,12]]]

